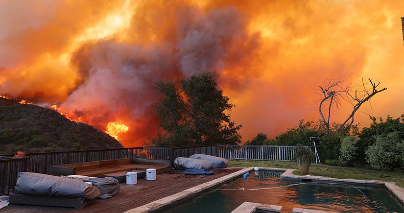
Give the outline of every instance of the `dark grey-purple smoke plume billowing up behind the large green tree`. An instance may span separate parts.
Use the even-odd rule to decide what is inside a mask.
[[[157,126],[149,109],[150,104],[158,101],[154,83],[222,71],[227,58],[237,55],[229,49],[236,48],[240,38],[249,39],[236,7],[206,13],[187,4],[181,8],[192,12],[185,17],[177,15],[173,23],[175,34],[158,35],[165,38],[163,41],[144,45],[130,39],[126,42],[111,39],[80,47],[72,56],[72,64],[82,81],[61,107],[99,129],[118,119],[130,123],[130,132],[125,135],[131,135],[132,140],[136,138],[137,145],[150,136],[144,134],[144,126],[151,126],[147,133],[155,134]],[[243,48],[253,51],[248,45],[237,48],[241,52]]]

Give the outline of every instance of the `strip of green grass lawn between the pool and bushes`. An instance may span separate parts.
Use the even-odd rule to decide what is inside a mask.
[[[294,162],[280,161],[245,161],[231,160],[229,166],[240,167],[275,167],[275,168],[295,168]],[[298,170],[293,171],[293,174],[300,174]],[[404,173],[401,172],[386,172],[369,169],[358,169],[351,167],[328,166],[312,163],[310,165],[309,174],[331,178],[351,178],[357,180],[380,180],[385,182],[395,182],[397,186],[404,188]]]

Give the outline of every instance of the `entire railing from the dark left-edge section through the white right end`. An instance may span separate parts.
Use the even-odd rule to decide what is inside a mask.
[[[206,154],[226,159],[293,161],[295,146],[211,145],[176,148],[134,147],[66,152],[25,153],[25,158],[0,156],[0,195],[12,192],[18,172],[48,173],[48,166],[75,164],[120,158],[147,157],[155,160]],[[5,155],[7,156],[7,155]]]

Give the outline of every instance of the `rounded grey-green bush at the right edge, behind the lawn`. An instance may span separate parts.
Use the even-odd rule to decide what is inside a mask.
[[[377,137],[366,150],[366,162],[381,170],[404,168],[404,141],[400,140],[399,132]]]

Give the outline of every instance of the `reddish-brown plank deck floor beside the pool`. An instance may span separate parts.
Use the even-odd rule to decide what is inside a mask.
[[[212,169],[214,175],[183,175],[183,170],[172,170],[170,172],[158,174],[155,181],[148,181],[143,178],[138,179],[136,185],[126,185],[126,183],[122,183],[120,184],[119,193],[114,197],[106,200],[95,199],[94,203],[91,203],[82,209],[10,204],[5,208],[0,209],[0,213],[120,213],[143,206],[154,200],[173,195],[185,189],[212,181],[241,169],[241,167]]]

